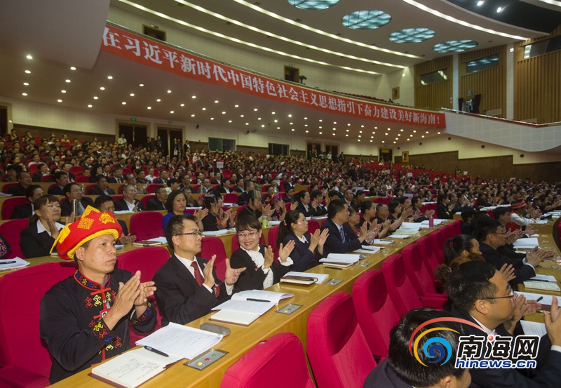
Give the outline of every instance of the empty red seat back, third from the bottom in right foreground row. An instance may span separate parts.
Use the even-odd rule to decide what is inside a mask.
[[[400,316],[388,295],[384,274],[380,269],[364,272],[353,283],[353,303],[360,328],[376,357],[386,358],[390,330]]]

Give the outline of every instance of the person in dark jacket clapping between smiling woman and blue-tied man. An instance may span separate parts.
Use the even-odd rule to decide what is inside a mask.
[[[304,272],[319,264],[320,258],[323,257],[325,240],[329,235],[327,229],[321,232],[317,229],[312,235],[307,232],[308,222],[299,210],[290,210],[285,220],[278,225],[276,249],[280,248],[281,243],[286,246],[289,241],[294,241],[295,246],[290,253],[294,264],[290,269],[297,272]]]

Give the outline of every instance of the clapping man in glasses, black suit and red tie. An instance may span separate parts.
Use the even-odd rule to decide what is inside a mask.
[[[175,215],[165,226],[165,239],[172,248],[170,260],[154,275],[156,302],[162,324],[184,325],[201,318],[212,307],[230,299],[234,283],[245,268],[232,269],[226,259],[224,282],[214,270],[216,256],[210,261],[196,257],[201,253],[203,234],[191,215]]]

